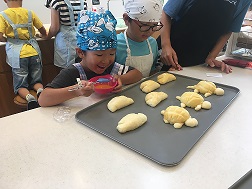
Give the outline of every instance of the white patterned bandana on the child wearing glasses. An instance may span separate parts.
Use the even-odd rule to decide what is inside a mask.
[[[125,12],[141,22],[160,22],[163,0],[124,0]]]

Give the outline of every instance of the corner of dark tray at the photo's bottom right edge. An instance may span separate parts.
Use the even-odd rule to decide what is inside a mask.
[[[252,169],[243,177],[236,181],[229,189],[251,189],[252,188]]]

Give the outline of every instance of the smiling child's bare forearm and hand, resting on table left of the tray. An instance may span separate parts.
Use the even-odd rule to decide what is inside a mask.
[[[54,106],[78,96],[90,96],[94,92],[93,84],[84,80],[81,82],[83,87],[73,91],[69,90],[77,88],[78,84],[58,89],[45,88],[38,98],[39,105],[42,107]]]

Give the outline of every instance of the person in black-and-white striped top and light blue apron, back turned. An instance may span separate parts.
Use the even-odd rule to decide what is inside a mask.
[[[78,14],[87,9],[85,0],[46,0],[51,9],[51,26],[47,39],[55,36],[54,65],[66,68],[75,63]]]

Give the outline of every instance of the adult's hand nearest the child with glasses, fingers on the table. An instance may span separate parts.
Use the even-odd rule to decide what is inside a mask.
[[[177,54],[171,46],[162,47],[160,59],[163,64],[171,66],[172,70],[182,70],[182,67],[178,63]]]

